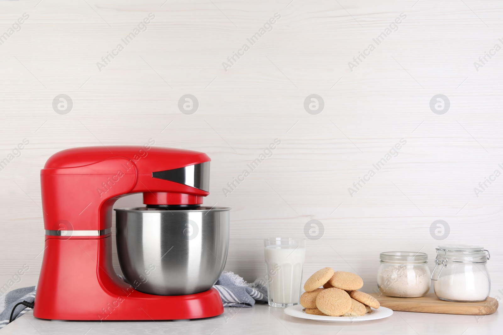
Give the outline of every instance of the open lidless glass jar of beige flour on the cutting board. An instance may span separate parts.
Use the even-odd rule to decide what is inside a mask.
[[[380,255],[377,287],[390,297],[422,297],[430,290],[428,255],[417,252],[386,252]]]

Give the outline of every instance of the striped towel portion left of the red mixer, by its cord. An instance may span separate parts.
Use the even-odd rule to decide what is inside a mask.
[[[7,293],[0,293],[0,329],[9,323],[11,318],[15,320],[32,308],[27,307],[20,302],[27,301],[33,303],[35,301],[35,286],[22,287],[12,290]],[[15,309],[14,313],[12,310]]]

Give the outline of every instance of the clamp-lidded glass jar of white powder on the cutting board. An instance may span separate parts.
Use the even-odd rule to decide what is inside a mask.
[[[487,299],[491,289],[486,265],[489,258],[489,252],[478,246],[439,246],[432,273],[437,297],[461,302]]]

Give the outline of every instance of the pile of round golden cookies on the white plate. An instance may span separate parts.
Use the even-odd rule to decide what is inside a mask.
[[[359,275],[323,268],[307,279],[300,304],[307,314],[362,316],[372,311],[370,307],[380,306],[376,298],[358,291],[362,286],[363,279]]]

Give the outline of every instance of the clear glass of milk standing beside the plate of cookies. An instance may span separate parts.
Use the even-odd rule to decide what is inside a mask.
[[[306,239],[276,237],[264,239],[267,296],[269,305],[297,305],[300,298]]]

